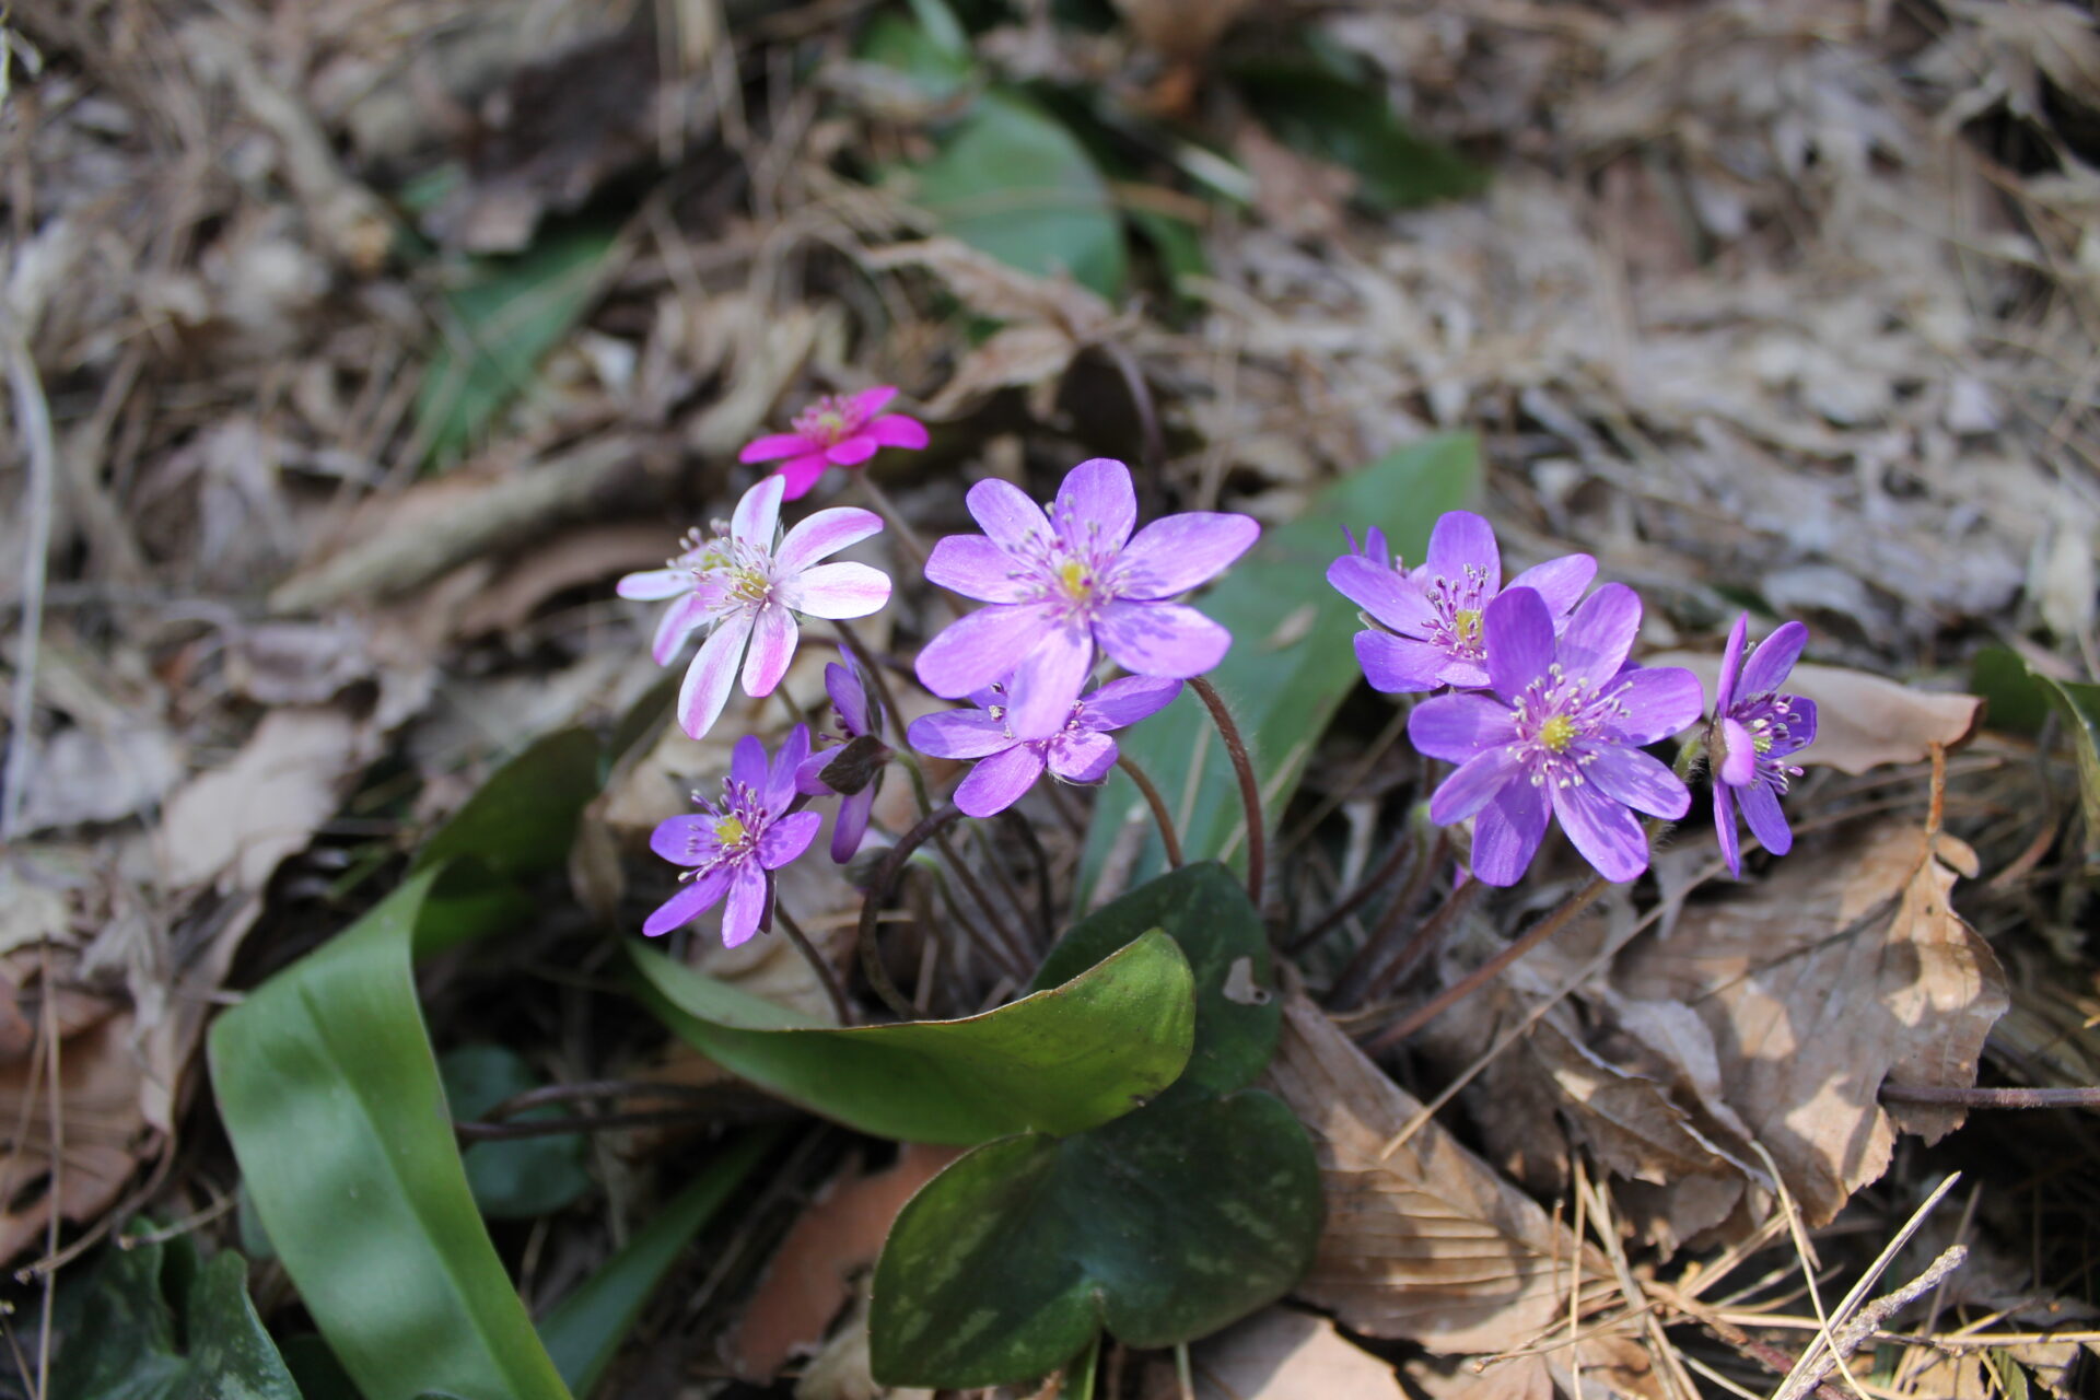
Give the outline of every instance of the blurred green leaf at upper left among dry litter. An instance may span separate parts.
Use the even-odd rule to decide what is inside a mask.
[[[449,290],[416,395],[416,437],[430,462],[458,458],[598,296],[613,229],[550,233],[514,258],[477,258]]]

